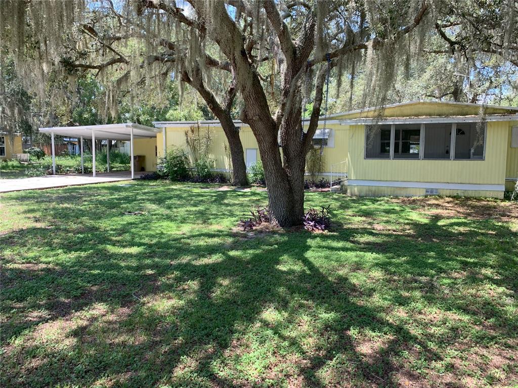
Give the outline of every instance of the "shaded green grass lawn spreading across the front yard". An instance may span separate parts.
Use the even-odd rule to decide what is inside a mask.
[[[518,208],[307,193],[333,230],[233,231],[264,191],[0,196],[2,387],[513,386]]]

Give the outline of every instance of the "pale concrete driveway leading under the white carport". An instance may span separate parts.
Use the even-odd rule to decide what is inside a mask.
[[[135,177],[148,172],[135,172]],[[54,187],[91,185],[94,183],[118,182],[131,180],[129,171],[97,173],[94,178],[91,174],[45,175],[32,178],[2,179],[0,192],[20,190],[40,190]]]

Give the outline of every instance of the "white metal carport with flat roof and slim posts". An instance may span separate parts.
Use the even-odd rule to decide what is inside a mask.
[[[92,144],[92,171],[95,176],[95,139],[97,140],[121,140],[130,142],[131,155],[131,178],[135,177],[135,166],[133,161],[133,141],[134,139],[156,138],[156,133],[160,129],[145,125],[126,123],[126,124],[104,124],[104,125],[83,125],[77,127],[51,127],[39,128],[42,133],[50,133],[52,142],[52,173],[56,173],[56,159],[54,151],[54,135],[77,138],[81,148],[81,171],[84,174],[83,139],[91,139]],[[110,171],[110,156],[107,153],[108,172]]]

